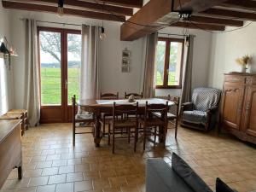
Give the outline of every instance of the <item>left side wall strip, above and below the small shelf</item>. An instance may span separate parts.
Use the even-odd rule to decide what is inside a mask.
[[[3,9],[0,1],[0,39],[4,36],[12,43],[9,34],[9,11]],[[3,57],[0,57],[0,115],[6,113],[9,108],[13,106],[12,100],[12,67],[4,64]]]

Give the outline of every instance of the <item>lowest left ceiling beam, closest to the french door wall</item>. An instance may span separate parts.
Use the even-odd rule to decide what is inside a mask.
[[[20,10],[40,11],[40,12],[57,14],[57,8],[53,6],[38,5],[38,4],[31,4],[31,3],[7,2],[7,1],[2,1],[2,4],[3,4],[3,8],[5,9],[20,9]],[[104,14],[104,13],[85,11],[85,10],[79,10],[79,9],[67,9],[67,8],[64,8],[64,15],[74,15],[74,16],[92,18],[92,19],[98,19],[98,20],[114,20],[114,21],[120,21],[120,22],[124,22],[125,20],[125,16]]]

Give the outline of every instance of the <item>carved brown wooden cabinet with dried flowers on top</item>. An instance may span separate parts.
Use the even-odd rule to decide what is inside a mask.
[[[256,74],[224,75],[220,122],[231,134],[256,144]]]

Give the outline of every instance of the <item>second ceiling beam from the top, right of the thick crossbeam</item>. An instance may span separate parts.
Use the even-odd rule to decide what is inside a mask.
[[[207,9],[199,13],[200,15],[213,16],[224,19],[251,20],[256,21],[256,14],[240,12],[228,9]]]

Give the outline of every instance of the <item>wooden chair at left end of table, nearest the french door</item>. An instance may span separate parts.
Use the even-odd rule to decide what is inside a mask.
[[[75,146],[75,138],[77,134],[88,134],[88,133],[94,133],[95,130],[95,119],[93,114],[77,114],[76,110],[78,108],[77,102],[76,102],[76,96],[74,95],[72,97],[72,106],[73,106],[73,146]],[[84,127],[90,127],[92,128],[92,131],[79,131],[77,132],[77,126],[78,123],[84,123],[89,124],[85,125]]]

